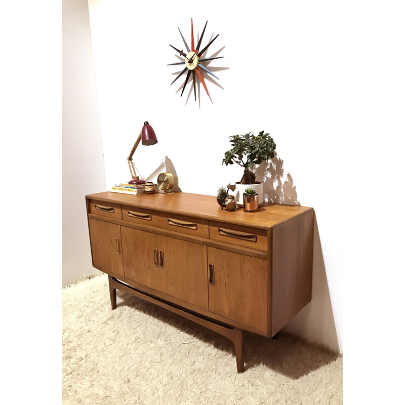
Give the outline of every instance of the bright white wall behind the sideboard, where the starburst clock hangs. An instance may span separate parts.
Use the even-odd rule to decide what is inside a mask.
[[[89,11],[107,186],[129,180],[126,157],[144,120],[158,143],[136,151],[140,174],[167,155],[182,191],[209,195],[242,174],[221,164],[227,137],[270,132],[281,183],[290,175],[298,203],[313,207],[317,221],[313,299],[285,330],[342,351],[343,12],[326,3],[89,0]],[[215,71],[222,88],[208,82],[212,102],[202,87],[200,102],[187,101],[190,84],[180,98],[183,79],[170,85],[181,68],[166,66],[178,60],[169,44],[184,49],[177,28],[189,42],[191,17],[195,35],[208,20],[203,45],[220,34],[207,56],[224,47],[210,65],[222,68]]]

